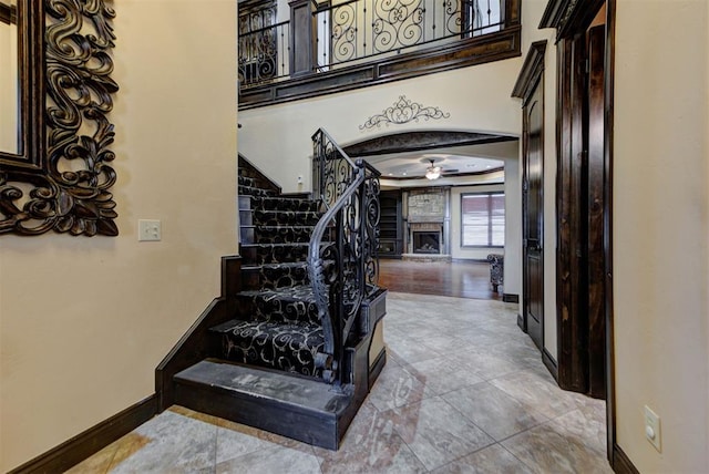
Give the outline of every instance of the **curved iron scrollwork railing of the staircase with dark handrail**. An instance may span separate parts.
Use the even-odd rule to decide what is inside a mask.
[[[320,128],[314,136],[314,193],[326,212],[310,238],[308,275],[325,332],[317,362],[323,379],[347,383],[345,344],[364,298],[377,288],[379,175],[352,159]]]

